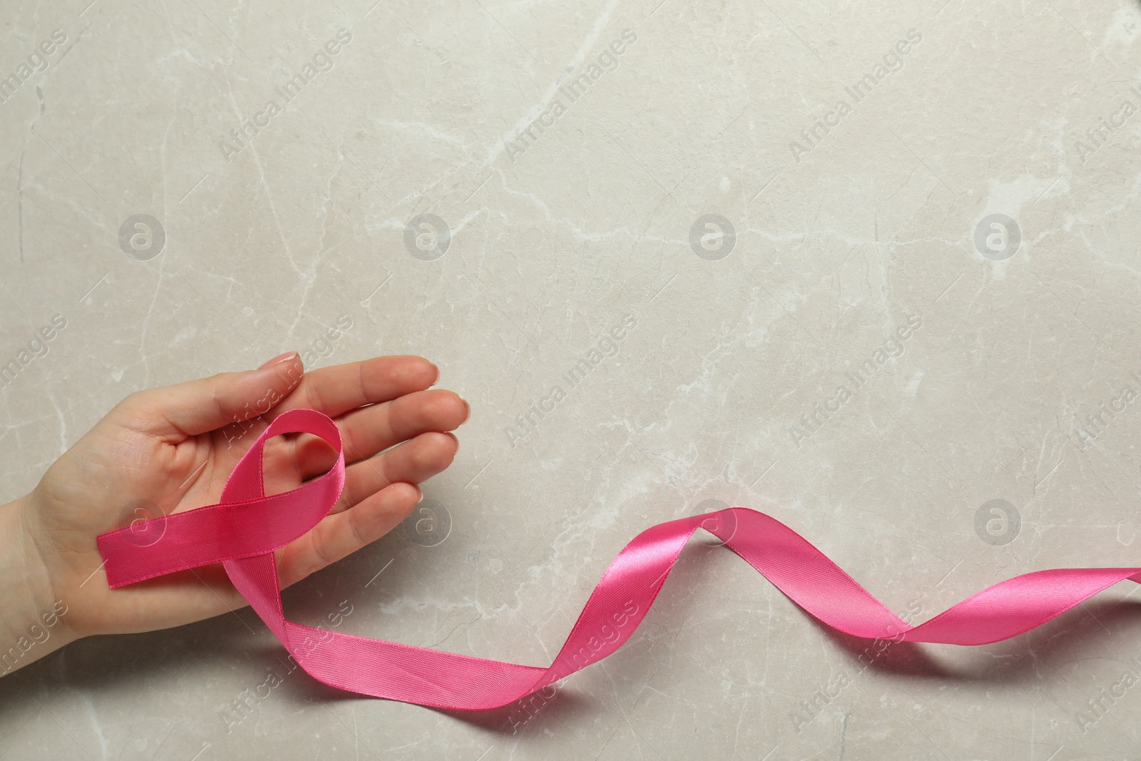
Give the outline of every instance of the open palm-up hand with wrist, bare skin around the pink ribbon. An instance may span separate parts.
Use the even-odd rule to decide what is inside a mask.
[[[436,365],[415,356],[305,373],[294,351],[258,370],[123,399],[32,492],[0,505],[0,650],[42,626],[57,601],[66,606],[51,635],[8,673],[82,637],[167,629],[244,607],[220,564],[112,590],[95,540],[156,517],[132,513],[136,500],[167,515],[216,504],[242,454],[288,410],[318,410],[337,422],[346,484],[317,526],[275,552],[282,586],[387,534],[423,497],[418,485],[452,463],[459,442],[448,431],[470,415],[458,395],[430,388],[438,378]],[[273,400],[256,416],[259,402],[264,410]],[[297,488],[334,462],[318,437],[275,436],[265,447],[266,494]]]

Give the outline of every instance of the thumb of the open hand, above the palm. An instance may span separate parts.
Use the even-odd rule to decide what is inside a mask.
[[[292,391],[305,366],[297,351],[257,370],[137,391],[119,405],[124,424],[163,438],[185,438],[257,418]]]

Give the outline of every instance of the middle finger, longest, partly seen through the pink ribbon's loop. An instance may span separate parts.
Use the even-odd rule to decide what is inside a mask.
[[[471,414],[471,407],[454,391],[430,389],[354,410],[337,420],[345,442],[345,462],[353,464],[378,452],[415,438],[428,431],[459,428]],[[296,454],[301,479],[329,470],[335,456],[322,447],[321,437],[305,434],[296,440]]]

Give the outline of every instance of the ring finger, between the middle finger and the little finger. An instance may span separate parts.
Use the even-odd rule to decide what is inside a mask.
[[[453,434],[428,432],[345,470],[345,488],[330,512],[366,501],[391,484],[421,484],[452,464],[459,440]]]

